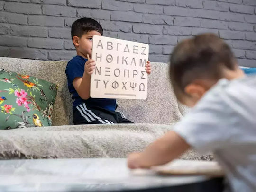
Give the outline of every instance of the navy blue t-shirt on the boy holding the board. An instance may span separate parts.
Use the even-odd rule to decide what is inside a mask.
[[[72,60],[68,61],[66,67],[66,76],[68,81],[68,89],[71,94],[73,94],[72,99],[73,102],[73,110],[76,108],[77,105],[85,103],[89,107],[102,107],[104,109],[109,109],[115,111],[116,109],[116,99],[98,99],[98,98],[89,98],[89,99],[82,99],[78,93],[76,92],[73,86],[73,80],[76,77],[82,77],[84,72],[84,64],[88,61],[88,59],[83,58],[82,56],[75,56]]]

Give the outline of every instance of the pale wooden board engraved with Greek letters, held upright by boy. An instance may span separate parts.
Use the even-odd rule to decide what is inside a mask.
[[[92,98],[146,99],[148,44],[94,35]]]

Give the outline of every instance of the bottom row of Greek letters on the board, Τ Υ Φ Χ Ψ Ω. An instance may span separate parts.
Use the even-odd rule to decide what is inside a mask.
[[[100,79],[94,79],[94,81],[96,81],[96,88],[99,87],[99,83],[102,83],[102,81]],[[144,83],[137,83],[137,82],[117,82],[117,81],[113,81],[112,83],[109,82],[109,80],[103,80],[104,83],[104,87],[105,89],[108,86],[111,86],[113,89],[117,89],[117,88],[121,88],[122,90],[127,90],[127,88],[131,88],[132,90],[134,90],[135,88],[138,88],[139,91],[145,91],[145,84]]]

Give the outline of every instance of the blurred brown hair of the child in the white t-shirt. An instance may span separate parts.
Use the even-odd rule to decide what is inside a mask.
[[[180,42],[170,59],[170,78],[181,101],[184,88],[195,79],[219,80],[223,68],[235,70],[234,55],[217,35],[206,33]]]

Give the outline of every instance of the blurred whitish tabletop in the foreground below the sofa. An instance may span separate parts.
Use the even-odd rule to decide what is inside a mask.
[[[201,183],[203,175],[163,176],[130,171],[125,158],[0,161],[0,191],[122,191]]]

